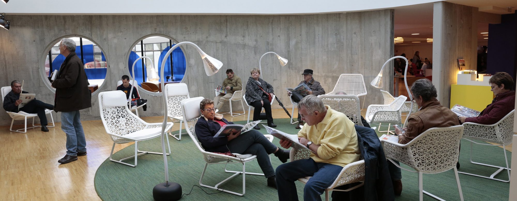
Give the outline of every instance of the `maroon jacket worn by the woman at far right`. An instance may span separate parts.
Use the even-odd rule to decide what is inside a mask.
[[[513,109],[515,109],[515,91],[507,91],[497,94],[492,100],[492,104],[486,106],[479,116],[467,118],[465,122],[485,125],[495,124]]]

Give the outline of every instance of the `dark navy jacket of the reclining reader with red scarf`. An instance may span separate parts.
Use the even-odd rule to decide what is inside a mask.
[[[226,121],[224,118],[221,121],[226,124],[233,124],[233,122]],[[197,119],[195,134],[197,135],[197,139],[201,142],[201,146],[203,146],[207,152],[230,152],[228,147],[226,147],[228,138],[214,138],[219,129],[221,129],[221,125],[215,121],[206,121],[203,116]]]

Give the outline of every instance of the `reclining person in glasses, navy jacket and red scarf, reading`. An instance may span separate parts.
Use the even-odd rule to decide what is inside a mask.
[[[251,129],[253,126],[249,126],[249,131],[243,133],[238,131],[228,136],[215,137],[222,126],[233,124],[224,119],[221,114],[217,114],[216,109],[211,99],[205,98],[200,103],[202,117],[195,124],[195,132],[203,148],[207,152],[226,155],[256,155],[258,165],[267,178],[267,186],[277,188],[275,170],[271,166],[269,155],[275,154],[284,163],[289,159],[289,150],[281,149],[269,142],[258,130]]]

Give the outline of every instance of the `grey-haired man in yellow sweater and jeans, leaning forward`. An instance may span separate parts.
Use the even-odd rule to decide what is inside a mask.
[[[323,105],[320,98],[308,95],[298,103],[298,112],[305,126],[298,132],[298,141],[313,153],[309,159],[281,164],[277,167],[278,198],[298,200],[295,181],[312,176],[303,188],[303,200],[321,200],[343,167],[359,160],[360,152],[354,123],[345,114]],[[284,148],[288,141],[280,140]]]

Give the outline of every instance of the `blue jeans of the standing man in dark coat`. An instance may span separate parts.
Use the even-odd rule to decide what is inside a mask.
[[[79,110],[61,112],[61,129],[66,133],[67,155],[77,156],[78,152],[86,152],[86,139]]]

